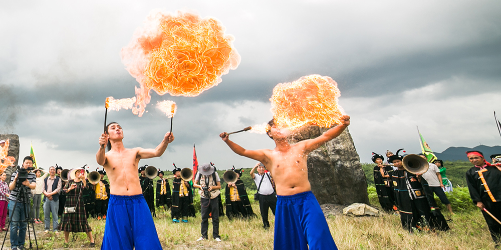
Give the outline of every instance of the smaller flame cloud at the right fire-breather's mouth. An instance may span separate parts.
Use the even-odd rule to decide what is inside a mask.
[[[305,124],[339,124],[344,111],[338,105],[341,92],[337,85],[331,77],[318,74],[277,84],[270,98],[275,123],[291,130]]]

